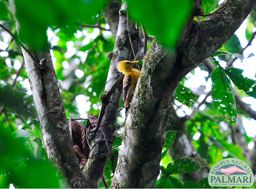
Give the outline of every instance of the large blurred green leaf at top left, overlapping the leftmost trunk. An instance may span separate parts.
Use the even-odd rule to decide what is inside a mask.
[[[65,29],[65,35],[72,36],[77,23],[96,23],[96,15],[105,4],[104,0],[16,0],[19,39],[34,49],[42,49],[47,45],[45,33],[49,26]]]

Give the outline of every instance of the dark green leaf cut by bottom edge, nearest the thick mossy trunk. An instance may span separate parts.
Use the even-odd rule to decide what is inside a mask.
[[[164,172],[162,172],[162,174],[163,175],[160,177],[159,183],[155,188],[183,188],[182,183],[178,179],[165,174]]]

